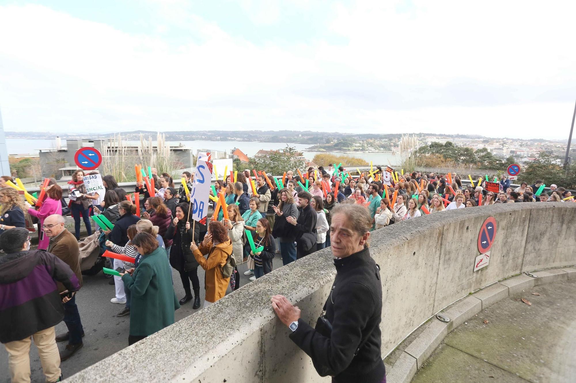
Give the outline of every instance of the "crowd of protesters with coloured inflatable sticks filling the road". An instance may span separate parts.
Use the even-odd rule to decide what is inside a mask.
[[[174,323],[174,311],[180,305],[193,301],[193,309],[207,307],[225,296],[229,286],[232,291],[238,289],[240,263],[247,263],[244,274],[252,275],[249,279],[253,281],[272,271],[276,254],[287,265],[325,247],[332,246],[334,252],[331,231],[342,224],[344,213],[353,212],[342,206],[359,205],[354,209],[361,210],[354,211],[361,212],[358,216],[366,222],[356,226],[372,231],[444,210],[510,202],[573,201],[570,191],[562,187],[551,185],[544,193],[540,187],[543,182],[536,181],[530,186],[522,182],[512,189],[506,177],[498,182],[496,192],[492,187],[486,189],[486,181],[466,187],[456,174],[414,171],[397,175],[395,181],[380,167],[369,175],[355,176],[343,167],[310,167],[305,177],[287,171],[284,187],[273,187],[272,174],[261,173],[252,179],[250,171],[245,170],[238,172],[236,180],[228,176],[215,182],[214,190],[224,194],[228,214],[221,210],[209,216],[207,224],[200,224],[189,214],[190,194],[185,191],[193,189],[194,173],[184,171],[181,177],[187,189],[184,185],[176,189],[169,174],[159,176],[152,169],[158,188],[147,190],[147,185],[138,182],[134,190],[142,197],[141,212],[126,199],[127,190],[120,188],[111,175],[102,178],[105,193],[86,193],[82,177],[88,174],[74,172],[68,182],[72,196],[68,203],[62,197],[62,187],[50,179],[40,206],[29,205],[16,189],[7,186],[5,182],[12,182],[12,178],[0,178],[2,296],[9,297],[10,291],[22,286],[29,293],[23,301],[5,298],[5,309],[0,310],[0,317],[8,320],[5,316],[9,315],[15,323],[14,331],[0,331],[13,381],[25,381],[29,376],[31,336],[41,351],[47,381],[59,381],[60,361],[82,347],[84,330],[76,304],[76,292],[82,286],[78,241],[82,221],[88,235],[92,234],[91,215],[104,215],[114,225],[111,231],[100,228],[100,255],[109,250],[131,260],[109,258],[106,262],[120,274],[107,275],[109,283],[115,285],[111,302],[124,305],[118,316],[131,314],[128,344],[132,344]],[[255,181],[255,189],[251,181]],[[304,183],[309,189],[302,187]],[[336,226],[333,212],[340,212]],[[63,216],[67,214],[73,217],[74,234],[65,227]],[[30,250],[30,223],[37,224],[37,250]],[[358,235],[363,236],[363,231]],[[260,247],[261,251],[253,250]],[[362,251],[362,246],[357,250]],[[232,270],[226,274],[223,270],[228,266]],[[204,302],[200,301],[198,267],[205,270]],[[183,284],[184,296],[180,299],[173,288],[172,269]],[[34,278],[44,283],[32,282]],[[281,310],[284,303],[277,298],[275,309]],[[28,307],[35,307],[39,316],[26,315]],[[14,318],[20,317],[16,324]],[[56,335],[54,326],[62,320],[69,331]],[[55,342],[65,341],[69,342],[65,349],[58,351]]]

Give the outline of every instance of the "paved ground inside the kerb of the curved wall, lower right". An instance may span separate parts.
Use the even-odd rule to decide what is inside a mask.
[[[412,380],[442,381],[576,382],[576,281],[535,286],[460,325]]]

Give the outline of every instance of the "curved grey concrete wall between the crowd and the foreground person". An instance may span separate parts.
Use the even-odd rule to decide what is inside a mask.
[[[490,264],[475,273],[478,233],[497,221]],[[451,210],[380,229],[370,251],[382,275],[382,356],[440,309],[524,271],[576,264],[576,204],[535,202]],[[314,324],[335,276],[325,249],[275,270],[69,381],[327,381],[289,340],[270,297],[284,294]],[[354,304],[354,302],[350,302]]]

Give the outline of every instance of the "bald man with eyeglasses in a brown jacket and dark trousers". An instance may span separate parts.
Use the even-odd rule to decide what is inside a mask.
[[[48,252],[51,252],[59,259],[64,261],[70,269],[74,271],[80,286],[82,286],[82,273],[80,270],[80,248],[75,236],[64,227],[64,217],[54,214],[48,216],[44,220],[42,226],[44,233],[50,238],[48,245]],[[58,284],[60,293],[64,292],[66,288],[62,284]],[[56,342],[68,341],[68,344],[60,353],[60,360],[65,361],[70,358],[76,351],[78,351],[84,343],[82,337],[84,336],[84,328],[82,328],[82,321],[76,305],[76,295],[73,294],[71,299],[64,303],[64,323],[68,328],[68,332],[56,336]]]

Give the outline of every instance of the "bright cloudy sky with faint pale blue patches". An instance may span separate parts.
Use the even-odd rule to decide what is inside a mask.
[[[566,139],[575,14],[573,1],[0,0],[0,108],[6,131]]]

